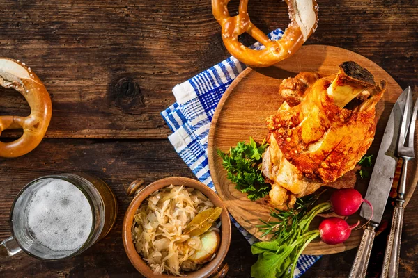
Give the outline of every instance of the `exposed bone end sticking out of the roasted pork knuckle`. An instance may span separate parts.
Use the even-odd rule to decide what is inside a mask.
[[[371,74],[359,64],[349,61],[341,63],[339,73],[336,75],[327,94],[334,99],[334,104],[343,108],[365,90],[376,88]]]

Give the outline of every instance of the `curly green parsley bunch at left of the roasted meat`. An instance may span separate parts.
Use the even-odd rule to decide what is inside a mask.
[[[264,141],[257,145],[250,137],[249,144],[238,142],[229,152],[224,153],[219,149],[217,151],[222,158],[222,165],[228,172],[228,179],[235,183],[236,189],[247,193],[251,201],[265,197],[270,191],[270,184],[265,183],[261,173],[261,155],[267,147],[268,144]]]

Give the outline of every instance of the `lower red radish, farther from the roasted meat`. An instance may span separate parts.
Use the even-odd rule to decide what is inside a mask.
[[[351,230],[359,223],[350,226],[341,218],[327,218],[319,225],[320,238],[324,243],[331,245],[343,243],[350,237]]]

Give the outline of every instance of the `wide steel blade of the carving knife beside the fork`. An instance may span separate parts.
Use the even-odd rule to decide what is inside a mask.
[[[395,168],[398,163],[398,157],[395,154],[407,97],[408,93],[405,90],[398,97],[392,108],[389,120],[387,120],[385,133],[383,133],[382,142],[380,143],[373,172],[371,173],[369,187],[364,197],[373,206],[374,213],[371,222],[376,224],[380,224],[382,220],[387,198],[394,180]],[[360,216],[369,220],[371,208],[368,204],[362,204]]]

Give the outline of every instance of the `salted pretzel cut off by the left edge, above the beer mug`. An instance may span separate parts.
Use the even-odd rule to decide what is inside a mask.
[[[0,58],[0,85],[20,92],[31,107],[27,117],[0,116],[0,134],[6,129],[23,129],[13,142],[0,142],[0,157],[17,157],[31,152],[45,136],[51,120],[51,98],[42,81],[19,60]]]

